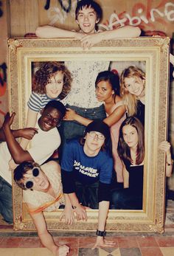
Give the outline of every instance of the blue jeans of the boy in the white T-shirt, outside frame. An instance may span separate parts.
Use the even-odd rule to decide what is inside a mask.
[[[13,223],[12,186],[0,176],[0,213],[9,224]]]

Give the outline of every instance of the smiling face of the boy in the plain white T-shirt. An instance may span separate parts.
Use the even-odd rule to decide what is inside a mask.
[[[55,128],[62,120],[62,115],[56,108],[49,107],[41,112],[42,115],[38,120],[38,125],[42,131],[49,131]]]

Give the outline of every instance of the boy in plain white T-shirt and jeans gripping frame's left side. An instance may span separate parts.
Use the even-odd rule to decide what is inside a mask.
[[[34,129],[35,136],[33,136],[28,150],[21,148],[21,145],[15,139],[13,131],[10,129],[15,113],[11,116],[7,113],[5,116],[1,131],[3,131],[6,142],[0,144],[0,177],[3,179],[4,184],[7,185],[8,190],[7,201],[4,201],[6,190],[4,189],[0,193],[0,212],[5,221],[13,222],[12,173],[9,170],[8,162],[11,157],[15,164],[21,164],[24,161],[35,161],[41,165],[46,162],[60,146],[60,134],[58,133],[57,126],[63,119],[65,112],[66,108],[57,100],[52,100],[46,104],[45,108],[41,111],[41,117],[38,119]]]

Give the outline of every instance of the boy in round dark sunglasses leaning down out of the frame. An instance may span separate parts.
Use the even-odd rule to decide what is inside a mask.
[[[14,170],[14,180],[23,191],[23,201],[38,231],[43,245],[54,255],[66,256],[69,247],[57,246],[46,228],[43,211],[58,210],[64,203],[60,165],[55,161],[39,166],[25,161]]]

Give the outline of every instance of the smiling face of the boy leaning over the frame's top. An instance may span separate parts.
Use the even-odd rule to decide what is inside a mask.
[[[95,26],[98,21],[99,19],[92,8],[83,7],[77,15],[77,24],[79,24],[80,30],[86,34],[92,34],[95,32]]]

